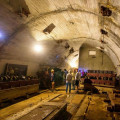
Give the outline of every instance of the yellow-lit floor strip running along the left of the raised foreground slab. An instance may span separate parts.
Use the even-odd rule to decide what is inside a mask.
[[[0,110],[0,120],[16,120],[37,108],[42,103],[48,102],[50,99],[53,99],[60,94],[49,93],[49,95],[50,97],[48,97],[48,94],[40,94]],[[42,100],[43,97],[46,99]]]

